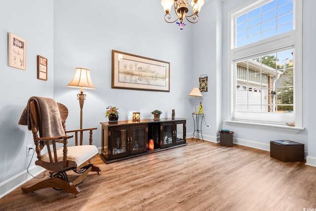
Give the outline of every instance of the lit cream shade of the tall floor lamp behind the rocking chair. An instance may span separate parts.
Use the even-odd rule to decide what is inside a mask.
[[[79,67],[76,68],[74,78],[67,86],[95,89],[95,86],[91,81],[90,70]]]

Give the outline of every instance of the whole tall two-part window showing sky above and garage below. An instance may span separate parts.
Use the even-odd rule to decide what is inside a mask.
[[[233,120],[301,127],[301,8],[258,0],[231,15]]]

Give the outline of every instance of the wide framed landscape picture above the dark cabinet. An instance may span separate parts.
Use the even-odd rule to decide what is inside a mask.
[[[112,50],[112,88],[170,91],[170,63]]]

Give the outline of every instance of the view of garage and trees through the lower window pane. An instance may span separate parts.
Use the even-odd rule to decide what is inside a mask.
[[[237,62],[236,111],[293,112],[293,49]]]

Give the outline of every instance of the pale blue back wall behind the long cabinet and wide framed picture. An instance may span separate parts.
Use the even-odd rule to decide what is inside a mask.
[[[98,147],[100,122],[108,121],[110,105],[119,108],[119,120],[130,120],[135,111],[141,119],[151,119],[155,109],[162,111],[161,117],[171,117],[175,109],[176,117],[192,121],[193,25],[180,30],[163,16],[160,1],[54,0],[54,98],[70,111],[68,129],[79,127],[79,89],[66,87],[76,67],[90,69],[96,86],[85,90],[83,127],[98,127],[93,134]],[[111,88],[112,49],[170,62],[170,92]],[[192,127],[191,122],[188,131]]]

